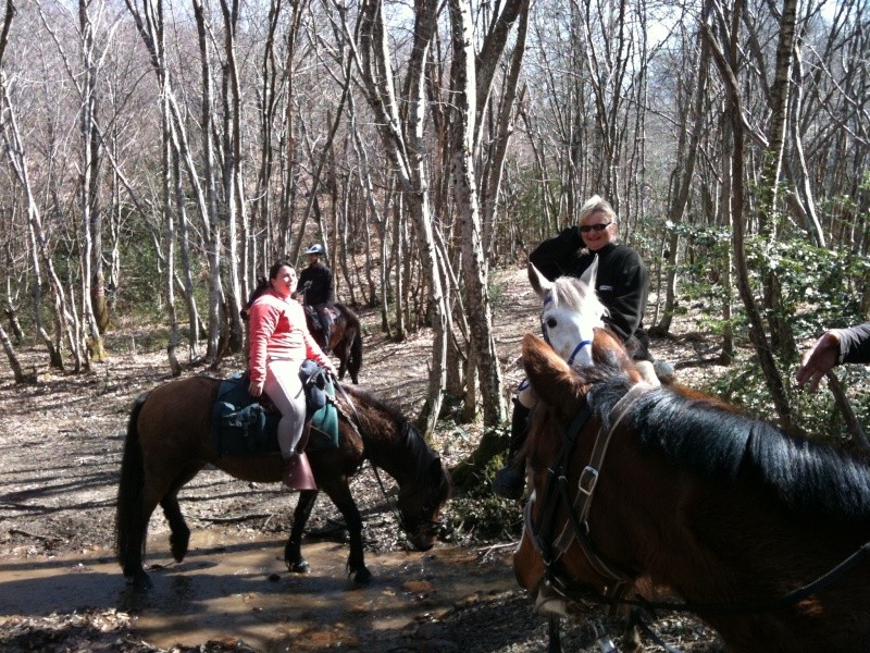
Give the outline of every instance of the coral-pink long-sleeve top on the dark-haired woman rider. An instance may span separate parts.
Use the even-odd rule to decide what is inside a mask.
[[[251,305],[250,349],[248,371],[251,383],[262,387],[265,381],[265,364],[269,358],[298,360],[311,358],[319,365],[332,367],[332,362],[311,337],[306,325],[302,305],[293,297],[282,297],[270,288]]]

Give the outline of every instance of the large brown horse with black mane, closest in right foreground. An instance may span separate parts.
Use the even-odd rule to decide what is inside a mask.
[[[870,651],[870,465],[639,382],[605,331],[593,359],[523,338],[539,403],[513,567],[538,605],[582,616],[648,581],[729,651]]]

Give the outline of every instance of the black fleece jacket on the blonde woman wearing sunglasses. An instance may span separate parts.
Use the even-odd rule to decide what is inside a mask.
[[[617,243],[609,243],[596,252],[585,249],[577,226],[562,231],[558,236],[544,241],[531,255],[544,276],[554,281],[558,276],[580,278],[598,256],[596,292],[608,311],[605,323],[619,335],[632,356],[638,360],[651,360],[647,346],[649,338],[644,330],[649,278],[638,254]]]

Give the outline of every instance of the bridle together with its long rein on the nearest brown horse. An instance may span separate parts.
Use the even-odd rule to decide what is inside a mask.
[[[562,447],[559,452],[559,457],[554,467],[547,470],[547,483],[544,488],[544,514],[538,523],[535,525],[532,520],[534,494],[529,500],[523,510],[523,522],[526,531],[531,533],[532,542],[545,565],[545,571],[538,581],[538,587],[543,584],[554,590],[561,599],[581,604],[584,602],[594,602],[611,607],[630,605],[642,607],[650,612],[654,609],[669,609],[674,612],[705,613],[706,615],[765,613],[792,605],[823,590],[834,580],[855,567],[866,556],[870,555],[870,542],[866,542],[852,555],[841,560],[836,566],[829,569],[813,581],[775,599],[765,601],[755,601],[750,603],[676,603],[668,601],[647,601],[639,595],[635,599],[622,597],[627,583],[636,578],[636,576],[620,570],[617,565],[605,560],[597,552],[589,538],[589,523],[587,518],[610,438],[619,427],[623,417],[629,412],[631,405],[638,398],[638,395],[648,390],[650,390],[650,386],[646,383],[636,383],[613,407],[610,415],[614,417],[614,421],[607,433],[602,433],[602,430],[599,429],[589,463],[581,472],[577,483],[577,494],[573,502],[571,501],[568,484],[568,468],[580,432],[586,426],[586,422],[593,414],[588,403],[574,417],[569,428],[562,431]],[[568,521],[556,541],[552,541],[556,510],[562,500],[569,506]],[[571,527],[570,530],[569,526]],[[583,587],[572,587],[570,582],[566,582],[556,574],[555,566],[557,562],[574,539],[593,568],[602,577],[616,582],[610,591],[608,591],[606,587],[604,592],[598,592],[594,589],[592,583],[583,583]],[[555,555],[554,550],[556,551]]]

